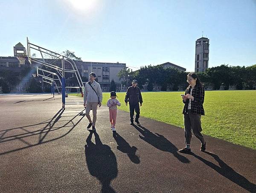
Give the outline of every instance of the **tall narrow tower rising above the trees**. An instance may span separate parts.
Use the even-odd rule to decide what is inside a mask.
[[[195,41],[195,72],[204,72],[209,65],[209,39],[201,37]]]

